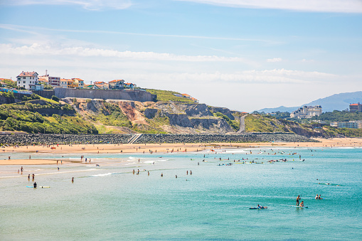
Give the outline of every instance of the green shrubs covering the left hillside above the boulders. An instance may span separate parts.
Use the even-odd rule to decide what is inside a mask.
[[[54,107],[50,104],[46,107]],[[43,117],[36,109],[43,109],[42,105],[1,105],[0,128],[4,131],[23,131],[28,133],[64,133],[64,134],[96,134],[97,129],[80,117],[61,117],[53,114],[52,117]],[[63,107],[58,107],[63,108]],[[65,106],[64,109],[73,109]]]

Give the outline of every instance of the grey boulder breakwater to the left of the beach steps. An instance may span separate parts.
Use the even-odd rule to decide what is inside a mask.
[[[127,143],[132,136],[132,134],[7,134],[0,135],[0,145],[119,144]]]

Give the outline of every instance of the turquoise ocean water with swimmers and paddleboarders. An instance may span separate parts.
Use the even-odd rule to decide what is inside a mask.
[[[91,164],[23,166],[22,176],[0,166],[0,240],[362,240],[362,149],[216,151],[85,153]],[[28,173],[50,188],[26,188]],[[308,208],[291,206],[298,195]]]

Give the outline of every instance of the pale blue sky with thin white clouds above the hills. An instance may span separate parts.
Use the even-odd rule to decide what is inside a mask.
[[[0,55],[13,80],[48,70],[294,107],[361,91],[362,0],[0,0]]]

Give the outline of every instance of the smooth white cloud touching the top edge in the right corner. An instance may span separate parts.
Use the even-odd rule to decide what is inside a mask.
[[[247,9],[362,13],[361,0],[176,0]]]

